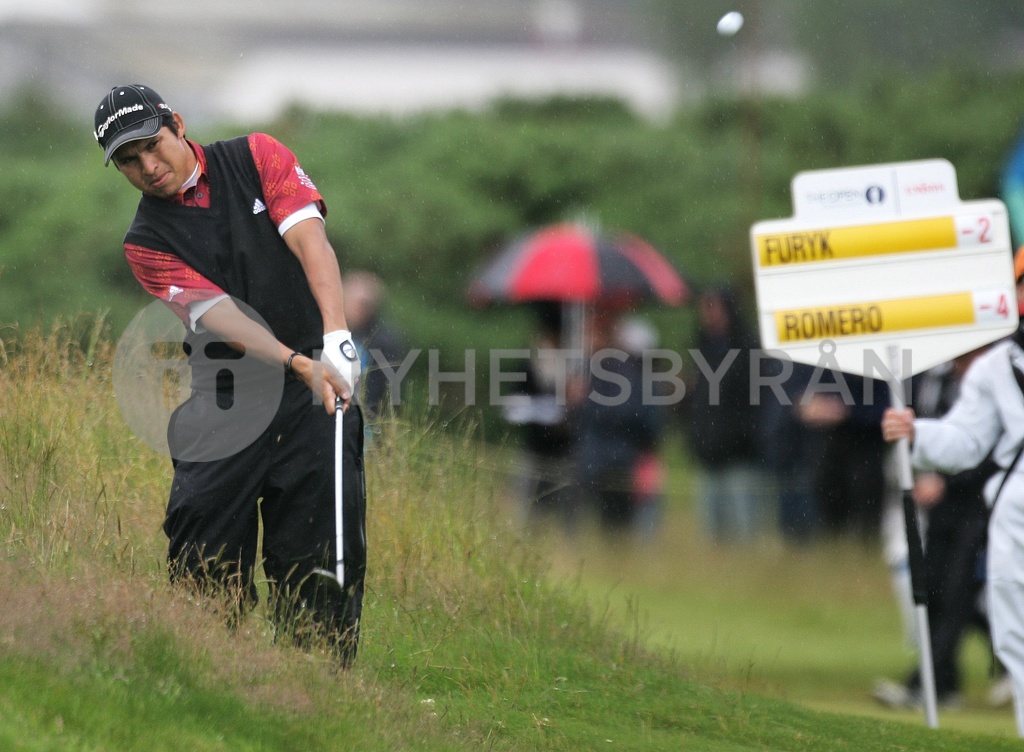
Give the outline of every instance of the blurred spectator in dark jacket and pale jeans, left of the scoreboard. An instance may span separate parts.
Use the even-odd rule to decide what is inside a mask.
[[[696,301],[696,372],[683,402],[684,431],[700,467],[698,503],[705,533],[715,541],[753,539],[765,516],[765,475],[758,457],[760,409],[751,395],[751,349],[728,287]]]

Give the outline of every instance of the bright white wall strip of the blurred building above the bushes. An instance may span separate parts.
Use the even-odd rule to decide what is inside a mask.
[[[678,99],[674,71],[643,51],[423,44],[264,50],[226,73],[219,99],[224,113],[260,120],[292,101],[402,115],[554,94],[618,97],[651,118]]]

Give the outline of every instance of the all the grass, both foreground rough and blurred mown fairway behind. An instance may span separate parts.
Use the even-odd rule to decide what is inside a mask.
[[[1018,745],[809,707],[902,668],[876,558],[701,546],[682,482],[651,546],[552,551],[510,525],[504,454],[429,414],[369,449],[355,667],[275,644],[261,609],[228,631],[214,602],[166,582],[168,462],[125,429],[92,331],[0,349],[2,749]]]

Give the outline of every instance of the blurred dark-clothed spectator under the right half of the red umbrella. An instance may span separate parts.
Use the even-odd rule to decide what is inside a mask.
[[[635,530],[660,495],[655,452],[664,427],[664,408],[644,398],[643,350],[656,335],[638,320],[620,321],[598,310],[591,329],[593,373],[586,394],[574,403],[573,460],[579,491],[597,511],[604,532]],[[640,492],[638,494],[638,492]]]

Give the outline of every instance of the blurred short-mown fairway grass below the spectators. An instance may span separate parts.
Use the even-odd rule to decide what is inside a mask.
[[[770,533],[749,546],[716,546],[701,539],[691,504],[677,471],[653,541],[554,537],[553,571],[603,602],[621,629],[639,625],[650,649],[683,657],[720,685],[925,724],[922,712],[888,710],[869,695],[878,678],[901,679],[918,660],[879,549],[835,540],[787,547]],[[1016,738],[1012,709],[986,703],[990,662],[987,641],[972,633],[962,656],[965,706],[940,711],[941,729]]]

